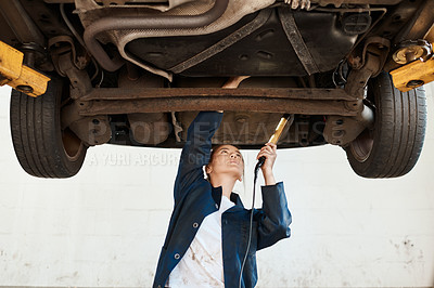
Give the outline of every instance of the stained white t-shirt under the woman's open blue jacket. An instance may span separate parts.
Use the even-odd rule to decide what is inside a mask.
[[[232,206],[221,195],[219,210],[203,220],[186,254],[171,271],[168,287],[225,287],[221,214]]]

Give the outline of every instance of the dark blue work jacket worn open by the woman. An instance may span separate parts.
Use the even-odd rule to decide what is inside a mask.
[[[153,287],[164,287],[170,272],[192,243],[204,218],[218,210],[221,186],[213,187],[204,178],[203,166],[209,161],[212,138],[222,114],[201,112],[190,125],[175,181],[175,207],[156,267]],[[254,209],[252,244],[242,274],[242,287],[257,282],[256,251],[290,237],[291,213],[283,183],[261,186],[263,208]],[[241,265],[248,239],[250,213],[240,197],[232,193],[235,206],[221,215],[225,287],[239,286]]]

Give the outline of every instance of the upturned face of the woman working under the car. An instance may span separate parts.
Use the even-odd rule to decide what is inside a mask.
[[[213,154],[213,159],[206,167],[206,173],[228,174],[235,179],[242,179],[244,171],[244,160],[240,150],[232,145],[221,145]]]

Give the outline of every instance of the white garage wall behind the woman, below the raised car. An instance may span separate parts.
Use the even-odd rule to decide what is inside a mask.
[[[358,178],[331,145],[279,150],[293,235],[258,252],[258,287],[434,286],[429,90],[425,146],[406,176]],[[13,152],[9,93],[0,88],[0,286],[150,287],[180,149],[103,145],[73,179],[31,178]],[[246,206],[256,154],[243,152],[248,183],[235,187]]]

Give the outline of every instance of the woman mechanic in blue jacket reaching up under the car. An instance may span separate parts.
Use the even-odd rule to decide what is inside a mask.
[[[222,115],[222,112],[201,112],[188,129],[155,288],[254,287],[256,251],[290,237],[291,213],[283,183],[276,183],[272,173],[277,147],[267,143],[256,157],[266,157],[261,167],[263,208],[253,210],[251,244],[244,260],[252,210],[245,209],[239,195],[232,193],[237,180],[242,180],[244,160],[232,145],[210,150]]]

